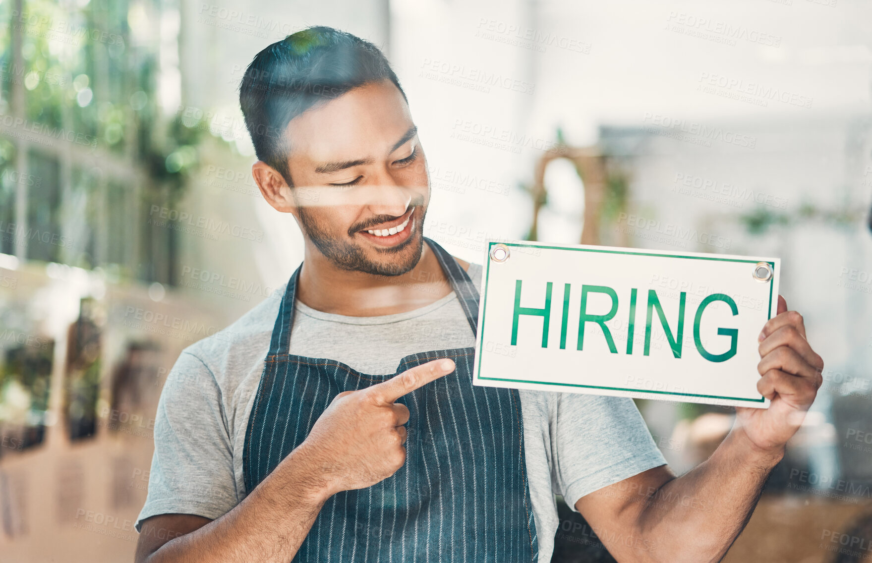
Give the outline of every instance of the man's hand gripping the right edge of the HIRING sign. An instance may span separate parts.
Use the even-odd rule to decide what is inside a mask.
[[[787,310],[778,296],[778,314],[760,334],[757,390],[771,401],[768,409],[737,407],[737,426],[761,451],[783,451],[800,428],[823,383],[823,359],[806,340],[802,315]]]

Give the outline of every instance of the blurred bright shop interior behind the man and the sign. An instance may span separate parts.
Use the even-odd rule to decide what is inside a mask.
[[[430,166],[425,234],[452,254],[779,256],[825,383],[726,561],[872,560],[862,0],[2,0],[0,560],[133,560],[168,370],[303,258],[251,178],[237,86],[315,24],[392,61]],[[637,404],[679,473],[732,424]],[[554,561],[612,560],[560,507]]]

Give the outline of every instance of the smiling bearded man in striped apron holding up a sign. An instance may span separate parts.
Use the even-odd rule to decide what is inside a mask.
[[[547,562],[555,492],[617,560],[723,557],[821,384],[782,297],[760,335],[771,407],[737,409],[676,478],[628,398],[473,387],[481,266],[423,235],[426,159],[377,48],[299,31],[240,102],[303,264],[167,377],[138,562]]]

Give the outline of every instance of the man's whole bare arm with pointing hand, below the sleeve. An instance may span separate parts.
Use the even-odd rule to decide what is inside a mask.
[[[303,444],[230,512],[143,520],[137,562],[290,561],[330,496],[375,485],[405,463],[409,410],[394,401],[453,370],[452,360],[433,360],[339,393]]]

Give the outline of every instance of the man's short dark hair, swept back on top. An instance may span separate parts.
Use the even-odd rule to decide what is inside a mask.
[[[239,85],[239,105],[257,158],[293,187],[290,145],[284,130],[291,119],[352,88],[397,75],[374,44],[323,25],[297,31],[257,53]]]

